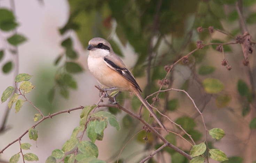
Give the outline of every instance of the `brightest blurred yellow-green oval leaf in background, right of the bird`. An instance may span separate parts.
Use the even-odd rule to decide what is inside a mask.
[[[207,93],[219,93],[224,89],[224,85],[218,79],[207,78],[203,80],[204,91]]]

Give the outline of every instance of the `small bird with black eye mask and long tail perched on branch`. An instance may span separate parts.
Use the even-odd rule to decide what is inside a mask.
[[[168,134],[163,123],[140,94],[142,92],[141,88],[132,73],[126,68],[121,58],[115,54],[110,43],[103,38],[96,37],[91,39],[88,44],[88,69],[100,84],[107,87],[102,90],[118,90],[120,92],[134,93],[161,128]]]

